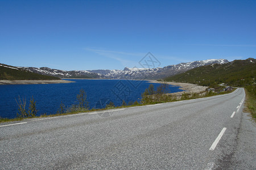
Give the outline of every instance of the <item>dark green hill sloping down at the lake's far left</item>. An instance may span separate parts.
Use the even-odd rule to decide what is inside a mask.
[[[0,80],[59,80],[55,76],[40,75],[0,63]]]

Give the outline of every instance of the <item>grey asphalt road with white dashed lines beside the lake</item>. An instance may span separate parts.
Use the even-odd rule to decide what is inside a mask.
[[[256,169],[244,97],[0,124],[0,169]]]

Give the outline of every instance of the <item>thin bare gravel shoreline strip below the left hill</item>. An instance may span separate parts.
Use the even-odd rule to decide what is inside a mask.
[[[59,84],[73,83],[68,80],[0,80],[0,85],[3,84]]]

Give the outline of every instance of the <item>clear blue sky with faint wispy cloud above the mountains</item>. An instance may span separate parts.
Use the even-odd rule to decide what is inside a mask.
[[[0,63],[63,70],[255,58],[256,1],[0,1]]]

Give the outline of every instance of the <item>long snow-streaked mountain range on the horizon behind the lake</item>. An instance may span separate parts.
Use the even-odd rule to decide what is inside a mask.
[[[48,67],[20,67],[25,70],[43,74],[52,75],[59,78],[108,78],[108,79],[162,79],[167,76],[183,73],[185,71],[194,69],[195,67],[212,65],[214,63],[224,64],[229,62],[226,59],[207,59],[204,61],[193,61],[187,63],[179,63],[177,65],[170,65],[166,67],[158,67],[153,69],[139,69],[127,68],[123,70],[73,70],[64,71],[57,69],[50,69]]]

